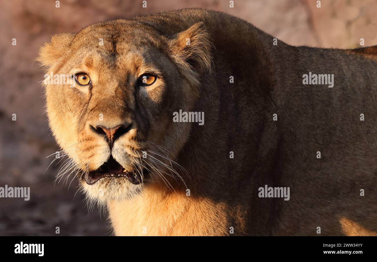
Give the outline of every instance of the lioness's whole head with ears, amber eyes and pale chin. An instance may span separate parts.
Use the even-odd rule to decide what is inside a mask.
[[[136,21],[99,23],[54,36],[38,59],[53,75],[45,81],[50,127],[89,198],[129,198],[164,182],[190,132],[173,112],[193,108],[197,72],[210,63],[202,23],[174,36]]]

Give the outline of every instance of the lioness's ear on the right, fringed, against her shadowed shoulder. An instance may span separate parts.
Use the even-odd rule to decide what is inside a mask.
[[[175,60],[186,68],[211,69],[210,34],[203,22],[182,31],[169,43]]]

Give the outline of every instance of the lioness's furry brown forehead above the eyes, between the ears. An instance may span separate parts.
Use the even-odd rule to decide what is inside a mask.
[[[70,43],[66,65],[138,74],[158,64],[161,52],[166,52],[164,38],[144,24],[121,21],[91,25],[78,32]]]

